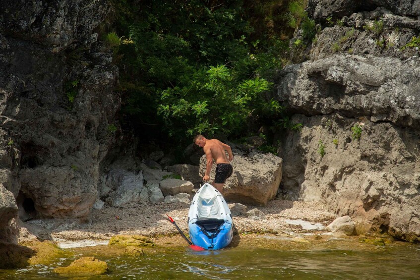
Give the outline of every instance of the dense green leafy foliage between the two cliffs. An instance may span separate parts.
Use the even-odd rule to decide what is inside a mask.
[[[304,0],[294,2],[299,4],[293,16],[306,24],[303,37],[311,40],[314,23],[307,19]],[[105,42],[117,50],[126,124],[145,141],[170,137],[178,146],[194,133],[256,133],[248,130],[251,119],[273,125],[283,108],[270,95],[270,78],[287,63],[294,31],[286,24],[289,4],[294,5],[288,0],[112,0],[115,24]]]

